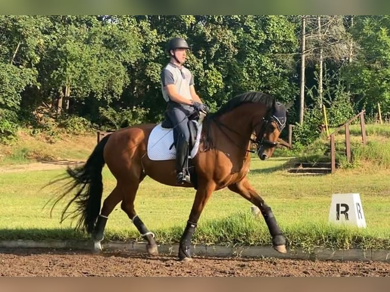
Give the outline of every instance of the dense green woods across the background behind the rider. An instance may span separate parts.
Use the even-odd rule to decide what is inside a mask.
[[[73,133],[159,122],[166,42],[212,108],[245,91],[294,101],[295,139],[366,109],[390,111],[389,16],[0,16],[0,139],[18,127]],[[304,44],[304,45],[302,45]],[[303,74],[302,74],[303,73]]]

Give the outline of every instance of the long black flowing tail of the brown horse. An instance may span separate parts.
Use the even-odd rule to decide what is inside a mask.
[[[74,169],[68,167],[67,175],[63,179],[72,180],[67,183],[68,188],[54,202],[54,205],[65,195],[73,190],[77,193],[67,203],[61,215],[61,222],[72,215],[78,218],[76,228],[92,233],[96,219],[100,213],[101,198],[103,194],[102,169],[105,164],[103,149],[110,135],[105,136],[95,147],[87,162]],[[61,179],[61,180],[63,180]],[[68,208],[75,202],[76,208],[67,212]],[[53,205],[53,207],[54,207]]]

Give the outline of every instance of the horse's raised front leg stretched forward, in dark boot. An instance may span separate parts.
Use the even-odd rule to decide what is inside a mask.
[[[275,216],[272,213],[272,210],[265,201],[259,196],[259,194],[254,190],[254,188],[249,184],[246,178],[242,179],[238,183],[228,186],[228,188],[240,194],[248,201],[252,202],[255,206],[257,206],[261,214],[265,219],[265,223],[268,226],[269,233],[272,237],[273,248],[281,253],[287,253],[286,250],[286,239],[282,233],[282,230],[277,225]]]

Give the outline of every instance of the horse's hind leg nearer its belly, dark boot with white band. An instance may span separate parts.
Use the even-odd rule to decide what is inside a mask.
[[[146,245],[148,253],[156,255],[158,254],[158,248],[154,240],[154,233],[149,231],[149,229],[145,226],[144,222],[142,222],[141,218],[136,214],[134,210],[134,199],[138,190],[138,186],[139,182],[129,181],[126,186],[123,187],[125,196],[123,198],[121,208],[131,219],[138,231],[140,231],[141,236],[148,241]]]

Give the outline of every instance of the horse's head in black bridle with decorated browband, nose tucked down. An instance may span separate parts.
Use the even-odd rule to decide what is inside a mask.
[[[262,118],[262,123],[258,123],[260,129],[256,133],[256,153],[261,160],[272,156],[277,146],[277,140],[286,127],[287,109],[290,106],[291,104],[285,106],[280,102],[274,102],[272,108]]]

